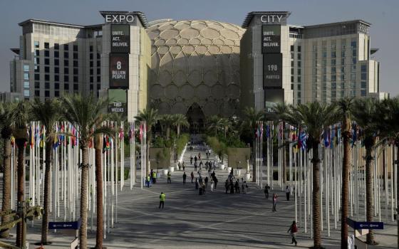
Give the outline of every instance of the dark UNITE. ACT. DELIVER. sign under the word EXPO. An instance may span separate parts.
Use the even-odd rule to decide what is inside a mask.
[[[111,25],[111,53],[130,52],[130,26]]]

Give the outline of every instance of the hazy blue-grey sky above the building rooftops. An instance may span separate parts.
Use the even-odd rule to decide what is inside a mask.
[[[290,24],[311,25],[351,19],[372,23],[371,47],[380,48],[380,90],[399,94],[398,0],[0,0],[0,92],[9,90],[9,61],[19,48],[18,23],[28,18],[90,25],[103,23],[98,11],[142,11],[160,18],[208,19],[242,24],[250,11],[291,11]],[[396,45],[395,45],[396,44]]]

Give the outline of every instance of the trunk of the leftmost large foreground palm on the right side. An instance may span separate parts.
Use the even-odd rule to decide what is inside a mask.
[[[318,142],[314,142],[313,146],[313,234],[314,248],[321,248],[321,220],[320,220],[320,159],[318,159]]]

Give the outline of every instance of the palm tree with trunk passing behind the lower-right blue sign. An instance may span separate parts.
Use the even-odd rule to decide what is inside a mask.
[[[364,147],[366,148],[366,221],[373,221],[373,152],[375,137],[378,132],[378,102],[371,98],[356,100],[352,109],[353,120],[362,129]],[[373,230],[367,234],[368,244],[375,244]]]

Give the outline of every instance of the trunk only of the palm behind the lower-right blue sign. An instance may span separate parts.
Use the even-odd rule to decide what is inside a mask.
[[[373,221],[373,156],[371,155],[372,147],[366,146],[366,221]],[[369,245],[374,243],[373,230],[369,230],[366,243]]]

